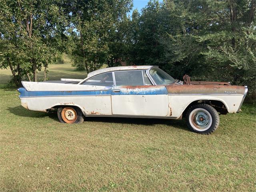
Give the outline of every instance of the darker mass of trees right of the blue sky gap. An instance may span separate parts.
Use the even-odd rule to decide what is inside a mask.
[[[158,65],[175,78],[248,85],[255,97],[255,10],[255,0],[150,1],[134,18],[130,62]]]

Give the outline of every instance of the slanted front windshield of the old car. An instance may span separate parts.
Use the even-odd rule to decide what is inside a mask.
[[[170,76],[160,68],[154,67],[150,69],[149,73],[157,85],[168,85],[175,82],[175,79],[172,78],[172,76]]]

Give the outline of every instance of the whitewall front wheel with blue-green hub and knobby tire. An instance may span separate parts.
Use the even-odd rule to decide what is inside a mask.
[[[211,134],[218,128],[220,117],[212,106],[198,104],[188,109],[186,121],[193,132]]]

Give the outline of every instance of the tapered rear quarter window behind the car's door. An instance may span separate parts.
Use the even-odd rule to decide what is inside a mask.
[[[113,76],[112,72],[104,73],[97,75],[95,77],[90,78],[86,82],[83,83],[83,85],[95,85],[95,86],[113,86]]]

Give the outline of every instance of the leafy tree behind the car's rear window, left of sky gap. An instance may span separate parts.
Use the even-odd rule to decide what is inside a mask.
[[[70,54],[75,66],[91,72],[113,58],[112,45],[118,41],[118,27],[130,5],[130,0],[74,2],[70,13]]]

